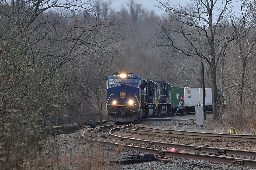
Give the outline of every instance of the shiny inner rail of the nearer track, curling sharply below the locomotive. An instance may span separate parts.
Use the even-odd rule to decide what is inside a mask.
[[[185,145],[185,144],[176,144],[176,143],[165,143],[165,142],[158,142],[158,141],[148,141],[142,139],[134,139],[129,137],[122,137],[115,134],[113,132],[119,130],[120,128],[113,128],[109,131],[109,135],[113,138],[123,140],[126,142],[134,142],[140,144],[147,144],[151,146],[160,146],[160,147],[167,147],[167,148],[179,148],[185,150],[195,150],[198,152],[208,152],[214,154],[226,154],[226,155],[237,155],[237,156],[247,156],[247,157],[256,157],[256,151],[249,151],[249,150],[235,150],[235,149],[226,149],[226,148],[213,148],[213,147],[204,147],[204,146],[194,146],[194,145]]]

